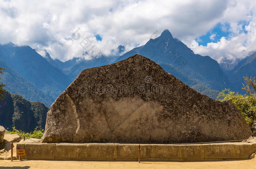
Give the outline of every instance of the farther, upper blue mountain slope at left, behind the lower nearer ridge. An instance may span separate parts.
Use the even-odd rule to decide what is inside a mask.
[[[1,60],[53,100],[71,83],[68,76],[29,46],[0,45],[0,55]]]

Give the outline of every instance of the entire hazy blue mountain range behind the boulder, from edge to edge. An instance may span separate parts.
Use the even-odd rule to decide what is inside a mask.
[[[124,51],[125,47],[119,45],[108,57],[99,55],[90,60],[75,57],[62,62],[52,59],[46,50],[41,56],[29,46],[0,45],[0,66],[7,67],[1,81],[11,93],[50,106],[82,70],[115,63],[136,53],[158,63],[188,86],[214,99],[224,88],[243,93],[243,76],[256,76],[255,53],[242,61],[231,63],[227,60],[219,64],[209,56],[194,54],[184,43],[173,38],[169,30],[164,30],[158,38],[150,39],[145,45],[127,53]],[[114,58],[117,59],[113,61]]]

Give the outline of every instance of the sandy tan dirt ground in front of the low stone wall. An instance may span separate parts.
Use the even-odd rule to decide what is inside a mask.
[[[107,162],[0,160],[0,169],[256,169],[256,159],[204,162]]]

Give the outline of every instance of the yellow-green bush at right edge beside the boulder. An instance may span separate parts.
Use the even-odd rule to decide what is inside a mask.
[[[246,123],[252,128],[256,122],[256,97],[248,94],[239,94],[225,89],[218,95],[220,101],[231,99],[238,110],[246,119]]]

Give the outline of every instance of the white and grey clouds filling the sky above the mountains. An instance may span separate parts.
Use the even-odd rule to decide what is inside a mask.
[[[0,0],[0,7],[0,43],[12,41],[46,49],[62,61],[82,56],[84,48],[80,43],[84,38],[109,55],[118,45],[125,45],[126,50],[144,45],[164,29],[169,29],[195,53],[210,55],[218,61],[230,55],[244,57],[236,52],[256,50],[255,4],[251,1]],[[240,20],[251,20],[246,26],[248,34],[240,33]],[[206,47],[196,44],[196,38],[219,22],[230,23],[233,37]],[[102,41],[96,40],[96,33],[102,36]]]

